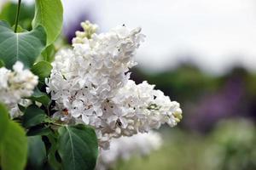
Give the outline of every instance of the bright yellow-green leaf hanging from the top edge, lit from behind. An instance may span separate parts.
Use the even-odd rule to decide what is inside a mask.
[[[36,0],[36,12],[32,27],[44,26],[47,33],[47,46],[60,35],[63,22],[61,0]]]

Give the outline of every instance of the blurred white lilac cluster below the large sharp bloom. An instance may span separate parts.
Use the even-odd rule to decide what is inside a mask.
[[[109,150],[100,150],[96,170],[112,169],[118,161],[127,161],[131,156],[148,156],[161,144],[160,133],[153,131],[112,139]]]

